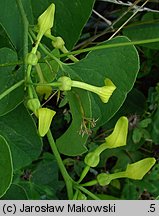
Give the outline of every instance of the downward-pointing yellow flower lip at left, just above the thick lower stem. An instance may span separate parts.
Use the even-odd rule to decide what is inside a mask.
[[[45,136],[50,128],[52,118],[56,114],[54,110],[48,108],[39,108],[37,110],[39,118],[38,131],[41,137]]]

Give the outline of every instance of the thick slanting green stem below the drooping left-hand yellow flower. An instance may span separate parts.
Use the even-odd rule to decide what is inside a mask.
[[[66,188],[67,188],[67,194],[68,194],[68,198],[69,199],[72,199],[73,198],[73,180],[71,179],[71,177],[69,176],[64,164],[63,164],[63,161],[60,157],[60,154],[57,150],[57,147],[56,147],[56,144],[54,142],[54,139],[53,139],[53,136],[52,136],[52,133],[51,131],[49,130],[48,133],[47,133],[47,138],[48,138],[48,141],[50,143],[50,146],[51,146],[51,149],[54,153],[54,156],[57,160],[57,163],[58,163],[58,166],[59,166],[59,169],[61,171],[61,174],[64,178],[64,181],[66,183]]]

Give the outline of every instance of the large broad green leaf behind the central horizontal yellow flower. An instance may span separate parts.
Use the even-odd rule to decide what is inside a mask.
[[[103,44],[127,41],[126,37],[117,37]],[[70,68],[73,73],[70,70],[68,73],[73,79],[78,75],[86,83],[103,86],[105,78],[109,78],[117,87],[107,104],[92,94],[92,116],[98,119],[97,126],[100,126],[112,118],[132,89],[139,70],[139,57],[134,46],[95,50]]]

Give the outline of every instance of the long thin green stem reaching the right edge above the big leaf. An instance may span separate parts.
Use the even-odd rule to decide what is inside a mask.
[[[89,48],[85,48],[85,49],[75,50],[72,52],[68,52],[66,54],[61,54],[58,57],[75,55],[75,54],[80,54],[80,53],[84,53],[84,52],[90,52],[93,50],[101,50],[101,49],[114,48],[114,47],[148,44],[148,43],[155,43],[155,42],[159,42],[159,38],[146,39],[146,40],[140,40],[140,41],[130,41],[130,42],[123,42],[123,43],[115,43],[115,44],[105,44],[105,45],[99,45],[99,46],[89,47]]]

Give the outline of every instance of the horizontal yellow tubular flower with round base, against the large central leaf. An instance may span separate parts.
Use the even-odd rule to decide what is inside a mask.
[[[84,82],[71,80],[69,77],[63,76],[58,79],[61,82],[60,90],[69,91],[71,87],[81,88],[87,91],[91,91],[97,94],[103,103],[107,103],[111,95],[113,94],[116,86],[110,79],[105,79],[105,86],[97,87]]]

